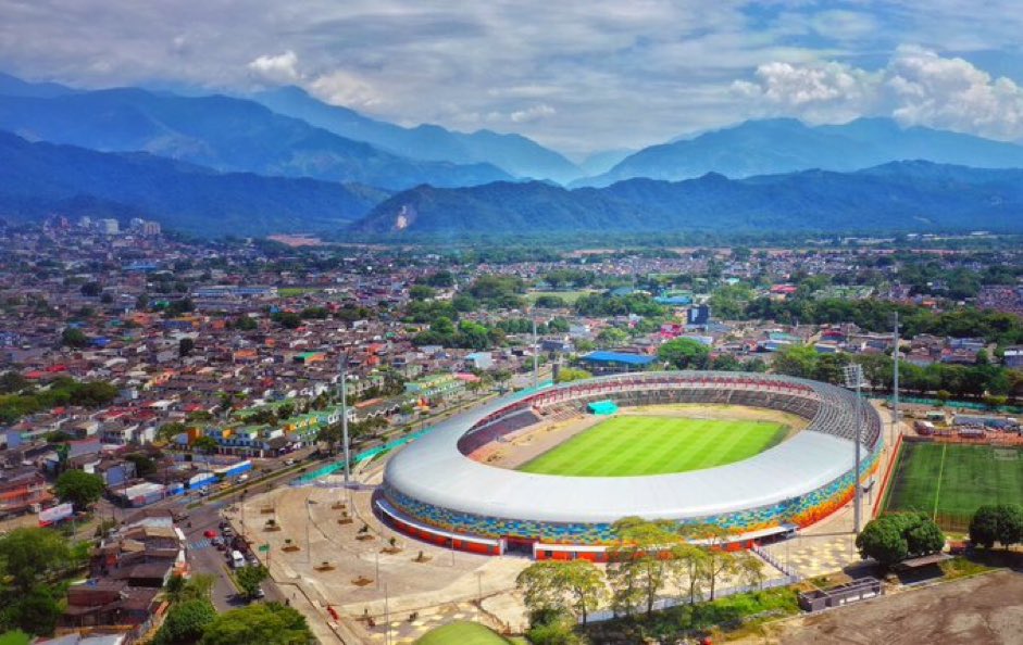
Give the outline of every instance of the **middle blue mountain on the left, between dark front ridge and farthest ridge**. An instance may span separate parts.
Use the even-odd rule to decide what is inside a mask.
[[[15,93],[0,92],[0,129],[32,140],[105,152],[145,151],[224,172],[386,189],[512,179],[490,164],[404,159],[275,114],[254,101],[132,88],[39,96],[11,81],[4,85]]]

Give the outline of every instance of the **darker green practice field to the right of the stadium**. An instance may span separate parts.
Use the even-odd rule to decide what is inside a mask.
[[[1023,498],[1018,448],[906,443],[888,491],[888,510],[922,510],[943,528],[960,530],[983,504]]]

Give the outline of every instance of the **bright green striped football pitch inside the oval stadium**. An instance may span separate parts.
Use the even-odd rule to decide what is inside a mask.
[[[519,468],[566,477],[633,477],[740,461],[788,430],[766,421],[621,416],[597,423]]]

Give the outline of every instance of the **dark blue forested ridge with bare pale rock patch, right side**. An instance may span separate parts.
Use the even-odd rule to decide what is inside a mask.
[[[566,190],[541,182],[417,187],[353,225],[402,235],[544,232],[1023,232],[1023,170],[891,162],[853,173],[635,178]]]

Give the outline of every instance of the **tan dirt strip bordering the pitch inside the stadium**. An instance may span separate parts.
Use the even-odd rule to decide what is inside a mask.
[[[720,419],[723,421],[774,421],[788,428],[785,439],[809,425],[807,419],[779,410],[747,407],[741,405],[643,405],[620,408],[616,416],[675,417],[693,419]],[[489,466],[514,469],[526,464],[576,434],[589,430],[610,417],[581,415],[569,420],[542,421],[508,443],[487,446],[473,458]]]

